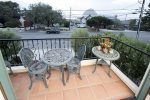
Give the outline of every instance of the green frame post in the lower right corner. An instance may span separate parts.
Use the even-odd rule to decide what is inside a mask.
[[[139,92],[136,94],[137,100],[145,100],[149,88],[150,88],[150,64],[145,72],[145,75],[139,87]]]

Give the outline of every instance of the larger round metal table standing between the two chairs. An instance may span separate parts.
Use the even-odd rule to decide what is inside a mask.
[[[55,48],[47,51],[42,60],[50,66],[59,67],[62,71],[62,82],[64,81],[64,66],[73,58],[73,53],[64,48]]]

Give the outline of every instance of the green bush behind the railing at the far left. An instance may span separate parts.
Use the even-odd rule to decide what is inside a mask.
[[[20,37],[10,31],[0,31],[0,39],[20,39]],[[21,49],[19,41],[0,40],[0,49],[5,60],[13,63],[15,61],[17,61],[16,63],[20,63],[17,57],[17,53]]]

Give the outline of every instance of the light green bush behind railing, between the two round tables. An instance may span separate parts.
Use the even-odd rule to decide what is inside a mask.
[[[85,58],[94,57],[91,50],[92,50],[92,47],[99,45],[98,35],[90,36],[90,33],[86,29],[78,29],[72,33],[71,37],[75,38],[75,39],[72,39],[71,41],[72,47],[74,48],[75,52],[81,44],[85,44],[86,45]]]

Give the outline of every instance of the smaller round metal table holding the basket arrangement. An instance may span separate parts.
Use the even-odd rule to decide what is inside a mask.
[[[110,61],[109,71],[108,71],[108,75],[110,76],[110,69],[111,69],[112,61],[118,60],[120,58],[120,54],[118,51],[116,51],[114,49],[112,49],[113,53],[103,53],[101,50],[98,50],[98,48],[101,49],[101,46],[95,46],[92,48],[92,53],[97,57],[93,73],[96,71],[98,59],[100,58],[100,59],[102,59],[102,61],[103,60],[109,60]]]

